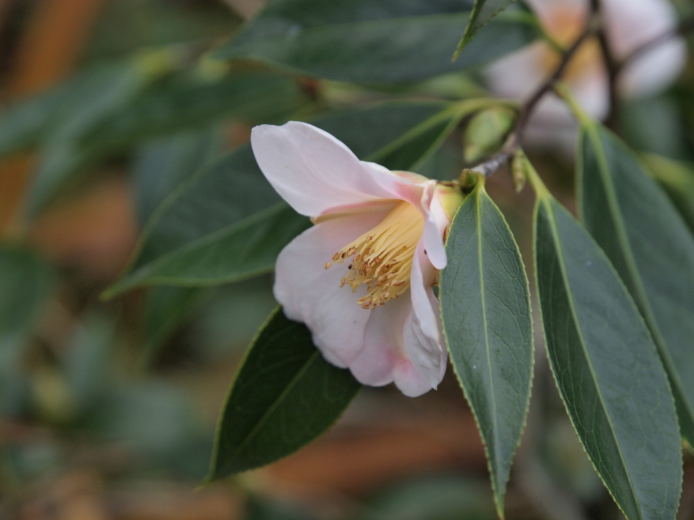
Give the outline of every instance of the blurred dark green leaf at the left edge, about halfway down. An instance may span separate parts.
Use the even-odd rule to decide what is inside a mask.
[[[26,395],[22,347],[53,288],[53,271],[28,250],[0,247],[0,411],[18,413]]]

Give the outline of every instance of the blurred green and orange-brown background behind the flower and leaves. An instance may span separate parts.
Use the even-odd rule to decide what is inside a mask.
[[[169,194],[244,144],[253,125],[375,101],[484,94],[474,71],[365,86],[205,55],[259,7],[260,0],[0,0],[0,517],[496,517],[484,451],[452,374],[415,400],[364,389],[310,447],[194,491],[208,471],[235,367],[275,306],[271,275],[100,297],[142,248],[138,237],[166,211],[158,208]],[[676,164],[657,168],[668,172],[659,180],[690,225],[693,74],[688,67],[665,94],[620,107],[629,143],[649,161]],[[455,124],[418,171],[455,177],[495,150],[509,114]],[[570,204],[564,150],[538,144],[530,153]],[[489,191],[530,254],[532,194],[516,195],[502,173]],[[147,245],[165,251],[166,239]],[[542,353],[537,363],[507,517],[620,517],[568,424]],[[694,517],[693,471],[689,458],[682,519]]]

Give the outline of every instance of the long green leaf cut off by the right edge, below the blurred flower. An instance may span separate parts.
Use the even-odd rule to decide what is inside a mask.
[[[641,310],[694,446],[694,237],[634,153],[609,130],[584,123],[581,208],[586,228]]]

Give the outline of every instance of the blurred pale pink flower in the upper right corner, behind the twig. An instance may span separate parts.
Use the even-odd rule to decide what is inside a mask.
[[[583,31],[589,15],[588,0],[528,0],[545,30],[557,42],[568,46]],[[672,29],[675,10],[667,0],[602,0],[604,33],[618,61],[635,49]],[[512,53],[485,71],[494,92],[511,98],[527,98],[559,64],[561,56],[545,42],[536,42]],[[618,77],[618,92],[626,98],[654,94],[670,85],[686,60],[686,46],[680,37],[653,46],[629,62]],[[583,109],[603,119],[609,110],[607,71],[596,37],[586,40],[573,56],[564,81]],[[568,121],[566,105],[546,96],[539,106],[545,121]]]

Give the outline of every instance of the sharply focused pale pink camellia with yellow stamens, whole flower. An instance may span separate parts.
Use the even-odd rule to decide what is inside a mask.
[[[251,144],[267,180],[314,223],[277,259],[287,318],[361,383],[394,381],[409,396],[437,388],[447,355],[432,286],[459,190],[359,161],[307,123],[257,126]]]

